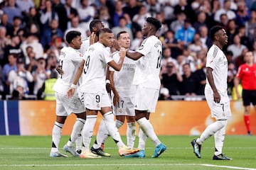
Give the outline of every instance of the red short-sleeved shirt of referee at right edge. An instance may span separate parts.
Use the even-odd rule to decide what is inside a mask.
[[[240,65],[236,77],[241,79],[242,89],[256,90],[256,64],[252,66],[247,64]]]

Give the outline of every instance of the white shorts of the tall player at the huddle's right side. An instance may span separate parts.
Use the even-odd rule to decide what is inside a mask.
[[[150,89],[144,86],[136,86],[135,110],[154,113],[159,98],[159,89]]]

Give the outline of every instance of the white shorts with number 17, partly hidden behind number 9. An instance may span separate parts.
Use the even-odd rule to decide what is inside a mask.
[[[114,105],[112,106],[114,115],[135,116],[134,101],[135,101],[135,96],[131,96],[131,97],[119,96],[119,102],[117,103],[117,106],[114,106]]]

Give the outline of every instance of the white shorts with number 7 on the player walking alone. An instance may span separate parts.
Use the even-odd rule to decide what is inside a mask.
[[[230,101],[215,103],[213,91],[205,90],[206,101],[210,108],[210,114],[216,120],[228,119],[231,116]]]

